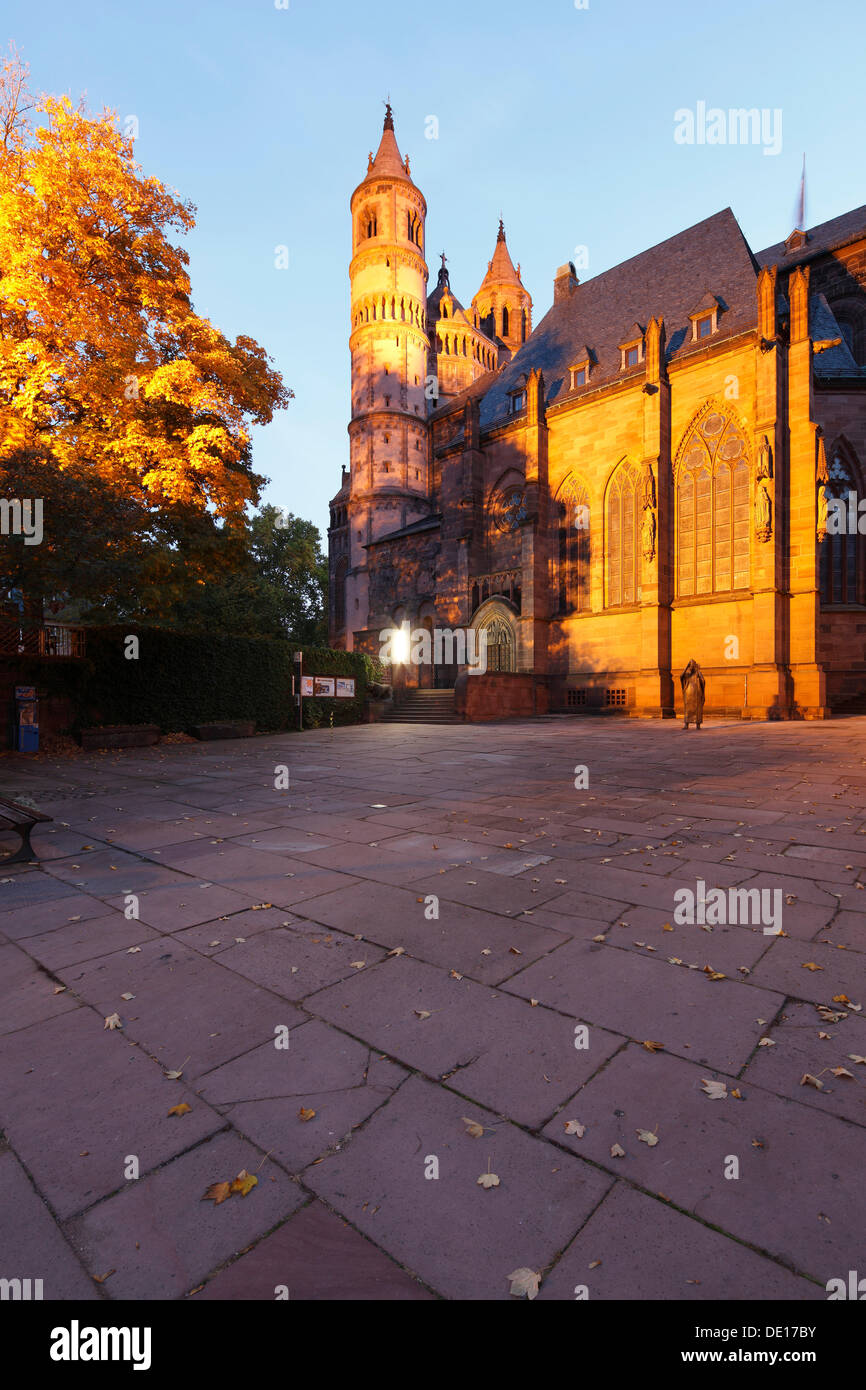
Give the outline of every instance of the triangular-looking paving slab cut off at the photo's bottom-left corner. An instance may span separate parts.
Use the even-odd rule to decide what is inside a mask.
[[[0,1148],[0,1279],[40,1279],[44,1300],[99,1298],[10,1148]]]

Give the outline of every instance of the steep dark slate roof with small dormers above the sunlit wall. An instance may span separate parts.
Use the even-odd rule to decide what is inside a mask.
[[[620,370],[620,343],[634,336],[635,322],[646,325],[653,316],[664,318],[669,361],[703,350],[706,339],[691,341],[688,316],[706,295],[714,295],[720,304],[713,342],[744,332],[758,314],[756,275],[758,264],[730,207],[595,275],[548,310],[496,377],[481,402],[481,427],[507,417],[509,391],[534,367],[544,373],[548,406],[602,382],[642,375],[644,364]],[[596,363],[588,385],[570,392],[569,367],[585,357],[584,345]]]

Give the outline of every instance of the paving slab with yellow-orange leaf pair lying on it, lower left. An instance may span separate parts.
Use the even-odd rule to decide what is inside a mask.
[[[242,1169],[259,1184],[218,1207],[202,1201],[213,1183]],[[238,1134],[217,1134],[157,1172],[128,1183],[65,1226],[92,1275],[114,1270],[110,1298],[179,1298],[303,1202],[282,1169]]]

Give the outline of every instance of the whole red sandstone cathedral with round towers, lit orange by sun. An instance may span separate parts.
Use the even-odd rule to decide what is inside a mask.
[[[569,261],[535,325],[502,222],[468,307],[445,256],[428,293],[391,107],[350,210],[334,646],[484,634],[478,717],[527,681],[534,708],[671,717],[691,659],[710,714],[866,694],[866,207],[759,252],[726,208],[589,279]],[[460,688],[459,656],[391,678]]]

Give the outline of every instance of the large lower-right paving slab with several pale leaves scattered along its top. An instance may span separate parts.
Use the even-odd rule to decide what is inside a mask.
[[[713,1101],[703,1077],[726,1081],[728,1093],[738,1087],[745,1098]],[[582,1138],[564,1133],[566,1116],[585,1125]],[[853,1213],[863,1209],[865,1152],[858,1126],[634,1045],[578,1091],[562,1118],[545,1134],[822,1286],[858,1268],[862,1222]],[[657,1131],[659,1143],[641,1143],[638,1129]],[[614,1144],[624,1158],[610,1155]],[[738,1179],[724,1177],[731,1155]]]

